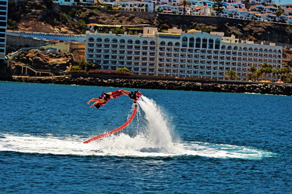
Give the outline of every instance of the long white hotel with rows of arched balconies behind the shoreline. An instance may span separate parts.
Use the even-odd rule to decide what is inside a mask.
[[[239,43],[235,36],[222,32],[169,29],[157,32],[145,27],[138,36],[86,32],[85,59],[100,64],[103,70],[125,67],[139,75],[204,77],[223,79],[233,69],[247,80],[249,67],[266,62],[282,67],[282,46]]]

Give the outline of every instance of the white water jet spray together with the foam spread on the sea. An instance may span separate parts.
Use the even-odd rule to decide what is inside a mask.
[[[137,111],[137,131],[134,136],[124,133],[113,134],[88,144],[87,139],[77,135],[54,137],[53,134],[33,136],[30,134],[2,134],[0,151],[18,151],[55,155],[95,155],[95,156],[134,156],[134,157],[175,157],[203,156],[209,158],[262,159],[273,153],[257,148],[235,145],[209,144],[204,142],[174,142],[172,128],[167,115],[153,100],[141,97],[138,101],[144,114]],[[139,120],[145,117],[146,126]],[[42,134],[44,135],[44,134]]]

